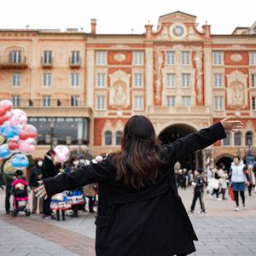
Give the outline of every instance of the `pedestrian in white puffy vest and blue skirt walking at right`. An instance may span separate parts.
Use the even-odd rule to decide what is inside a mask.
[[[234,160],[230,166],[230,174],[231,174],[231,186],[234,191],[235,201],[236,201],[235,211],[236,212],[240,211],[238,194],[240,194],[241,196],[243,209],[246,210],[247,207],[245,204],[244,192],[246,189],[248,175],[247,175],[243,160],[241,160],[239,156],[234,157]]]

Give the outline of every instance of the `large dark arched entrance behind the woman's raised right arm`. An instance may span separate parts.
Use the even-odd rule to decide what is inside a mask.
[[[166,127],[160,132],[159,138],[162,143],[172,143],[180,137],[184,137],[191,132],[195,132],[195,128],[190,125],[176,124]],[[187,170],[195,170],[202,168],[202,154],[201,151],[195,152],[179,161],[181,168]]]

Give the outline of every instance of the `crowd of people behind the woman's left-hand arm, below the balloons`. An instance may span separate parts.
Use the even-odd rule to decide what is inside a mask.
[[[101,160],[101,159],[97,159]],[[93,160],[94,162],[96,160]],[[44,178],[55,177],[62,172],[73,172],[75,169],[90,164],[90,160],[73,155],[68,160],[67,165],[61,165],[55,162],[55,151],[49,150],[43,158],[36,158],[34,166],[29,172],[28,177],[21,175],[22,178],[28,180],[28,189],[32,192],[32,214],[42,214],[44,219],[66,220],[68,215],[70,218],[78,218],[79,212],[96,212],[97,184],[93,183],[79,189],[64,191],[48,198],[38,198],[34,189],[38,188],[40,181]],[[22,171],[19,170],[19,173]],[[16,179],[15,173],[4,173],[3,179],[5,183],[5,212],[10,214],[12,211],[10,197],[12,195],[11,184]],[[20,177],[19,177],[20,178]]]

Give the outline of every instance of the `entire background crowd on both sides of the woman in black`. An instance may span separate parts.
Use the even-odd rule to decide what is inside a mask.
[[[100,156],[99,156],[100,157]],[[102,159],[92,160],[94,163]],[[55,151],[49,150],[44,159],[37,158],[34,160],[35,165],[32,167],[28,177],[29,188],[32,191],[32,214],[40,213],[44,219],[66,220],[66,215],[71,218],[78,218],[79,212],[96,212],[97,205],[97,184],[92,183],[79,189],[64,191],[49,198],[38,198],[34,193],[34,189],[38,188],[40,181],[47,177],[55,177],[56,175],[66,172],[73,172],[75,169],[90,164],[90,160],[85,160],[78,155],[73,155],[63,166],[55,162]],[[177,188],[187,189],[193,188],[193,199],[189,213],[195,211],[196,201],[200,201],[201,214],[206,213],[206,207],[203,201],[203,195],[206,190],[210,198],[216,198],[218,201],[227,200],[228,192],[232,190],[233,200],[236,202],[235,211],[240,211],[239,195],[241,197],[242,207],[247,209],[245,203],[245,190],[248,195],[252,195],[252,191],[256,193],[256,168],[252,165],[245,165],[243,160],[236,156],[230,166],[220,164],[212,170],[207,169],[203,172],[201,168],[197,170],[181,169],[177,162],[175,165],[175,176]],[[11,184],[15,179],[14,175],[4,175],[5,181],[5,211],[10,213],[10,196]],[[25,177],[24,177],[25,178]],[[0,177],[0,188],[3,189],[3,177]]]

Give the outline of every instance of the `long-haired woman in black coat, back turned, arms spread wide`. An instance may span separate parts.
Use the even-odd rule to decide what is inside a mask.
[[[177,193],[174,165],[223,139],[225,131],[239,128],[240,121],[224,119],[160,145],[150,120],[135,115],[125,124],[119,152],[45,179],[37,195],[51,196],[97,182],[97,256],[187,255],[195,252],[197,236]]]

